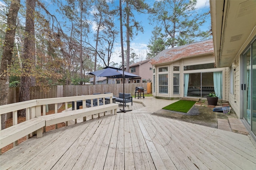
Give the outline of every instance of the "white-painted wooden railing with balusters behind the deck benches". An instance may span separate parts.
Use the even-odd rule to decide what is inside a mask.
[[[73,96],[73,97],[62,97],[62,98],[36,99],[36,100],[30,100],[30,101],[26,101],[26,102],[18,102],[18,103],[14,103],[14,104],[7,104],[7,105],[0,106],[0,115],[12,112],[13,125],[17,125],[18,124],[18,111],[21,109],[26,109],[26,121],[28,121],[35,117],[40,117],[42,115],[46,115],[46,105],[48,105],[48,104],[54,104],[55,113],[58,113],[58,104],[59,103],[61,103],[61,104],[64,103],[65,110],[68,111],[68,103],[74,102],[74,109],[76,110],[77,109],[76,108],[77,101],[82,100],[82,106],[83,106],[83,108],[86,109],[86,100],[90,100],[91,103],[93,103],[93,99],[97,99],[97,102],[99,105],[100,99],[103,99],[102,100],[103,105],[105,105],[105,98],[110,98],[110,103],[112,103],[112,96],[113,96],[113,94],[110,93],[110,94],[84,95],[84,96]],[[91,107],[93,107],[93,105],[91,105]],[[0,118],[1,118],[1,116],[0,116]],[[0,120],[0,122],[1,122],[1,120]],[[8,128],[4,129],[5,132],[6,132],[6,130],[8,131]],[[34,129],[34,130],[36,131],[37,129]],[[35,133],[33,135],[35,135]],[[28,136],[28,137],[30,137],[30,136]],[[15,142],[14,146],[16,146],[17,144],[18,144],[18,142]]]

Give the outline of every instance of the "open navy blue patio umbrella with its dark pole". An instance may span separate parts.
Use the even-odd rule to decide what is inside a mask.
[[[108,78],[123,78],[123,98],[124,98],[124,78],[134,78],[139,77],[138,75],[132,74],[130,72],[126,72],[124,70],[121,70],[120,68],[110,67],[106,66],[102,70],[93,71],[89,74],[95,75],[97,77],[108,77]],[[124,99],[123,99],[124,101]],[[124,103],[123,103],[124,105]],[[124,106],[122,112],[125,112]]]

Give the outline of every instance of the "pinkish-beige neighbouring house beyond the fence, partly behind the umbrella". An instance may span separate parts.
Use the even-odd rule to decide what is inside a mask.
[[[152,65],[148,63],[150,60],[148,59],[130,65],[130,73],[139,76],[130,78],[130,83],[146,83],[152,81]]]

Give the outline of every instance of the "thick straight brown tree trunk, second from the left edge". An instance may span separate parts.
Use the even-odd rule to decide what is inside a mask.
[[[24,38],[24,53],[22,55],[22,76],[20,78],[19,101],[24,102],[30,100],[31,86],[31,68],[34,66],[35,55],[35,30],[34,30],[34,12],[36,3],[34,0],[26,1],[26,27]],[[25,109],[19,111],[19,116],[25,117]]]

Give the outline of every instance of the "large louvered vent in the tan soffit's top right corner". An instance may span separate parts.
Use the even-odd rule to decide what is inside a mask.
[[[256,0],[247,0],[238,5],[237,18],[256,12]]]

